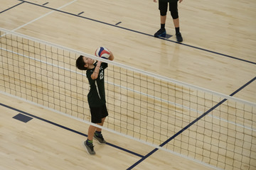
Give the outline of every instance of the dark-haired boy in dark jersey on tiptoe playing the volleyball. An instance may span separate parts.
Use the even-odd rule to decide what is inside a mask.
[[[108,60],[114,60],[112,52],[110,52]],[[97,123],[97,125],[102,126],[108,115],[104,81],[104,70],[107,68],[107,63],[101,61],[95,62],[95,60],[89,57],[80,55],[76,60],[76,67],[80,70],[87,70],[86,76],[90,83],[90,91],[87,95],[87,99],[90,106],[92,123]],[[90,125],[87,140],[83,142],[88,154],[95,154],[94,146],[92,145],[93,137],[95,137],[100,144],[106,143],[102,136],[102,129]]]

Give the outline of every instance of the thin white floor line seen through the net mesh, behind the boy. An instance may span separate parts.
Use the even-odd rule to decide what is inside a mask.
[[[65,67],[60,67],[60,66],[58,66],[58,65],[56,65],[56,64],[51,64],[51,63],[48,63],[48,62],[45,62],[45,61],[42,61],[42,60],[38,60],[38,59],[33,58],[33,57],[29,57],[29,56],[26,56],[26,55],[23,55],[23,54],[19,54],[18,52],[14,52],[14,51],[11,51],[11,50],[6,50],[6,49],[1,48],[1,47],[0,47],[0,50],[5,50],[5,51],[7,51],[7,52],[11,52],[11,53],[14,53],[14,54],[16,54],[16,55],[20,55],[20,56],[22,56],[22,57],[26,57],[26,58],[29,58],[29,59],[31,59],[31,60],[35,60],[35,61],[37,61],[37,62],[42,62],[42,63],[44,63],[44,64],[48,64],[48,65],[51,65],[51,66],[53,66],[53,67],[58,67],[58,68],[60,68],[60,69],[67,70],[68,72],[73,72],[73,73],[80,74],[80,75],[86,77],[86,74],[82,74],[82,73],[80,73],[80,72],[76,72],[76,71],[71,70],[71,69],[66,69]],[[120,86],[120,85],[118,85],[118,84],[114,84],[114,83],[109,82],[109,81],[106,81],[106,83],[107,83],[107,84],[112,84],[112,85],[114,85],[114,86],[118,86],[118,87],[120,87],[120,88],[122,88],[122,89],[127,89],[127,90],[129,90],[129,91],[133,91],[134,93],[138,93],[138,94],[142,94],[142,95],[144,95],[144,96],[148,96],[148,97],[150,97],[150,98],[154,98],[154,99],[159,100],[159,101],[164,101],[164,102],[166,102],[166,103],[173,104],[174,106],[179,106],[180,108],[186,108],[186,109],[188,109],[189,111],[194,111],[194,112],[196,112],[196,113],[201,113],[201,114],[204,113],[204,112],[202,112],[202,111],[198,111],[198,110],[195,110],[195,109],[193,109],[193,108],[188,108],[188,107],[186,107],[186,106],[183,106],[183,105],[180,105],[180,104],[171,102],[171,101],[166,101],[166,100],[164,100],[164,99],[157,98],[157,97],[151,96],[151,95],[149,95],[149,94],[144,94],[144,93],[142,93],[142,92],[140,92],[140,91],[134,91],[133,89],[129,89],[129,88],[125,87],[125,86]],[[254,128],[250,128],[250,127],[247,127],[247,126],[245,126],[245,125],[240,125],[240,124],[235,123],[235,122],[233,122],[233,121],[226,120],[226,119],[224,119],[224,118],[219,118],[218,116],[215,116],[215,115],[211,115],[211,114],[210,114],[210,115],[207,115],[207,116],[212,117],[212,118],[215,118],[215,119],[218,119],[218,120],[221,120],[221,121],[226,122],[226,123],[230,123],[230,124],[233,124],[233,125],[240,126],[240,127],[245,128],[245,129],[247,129],[247,130],[252,130],[252,131],[255,131],[255,132],[256,132],[256,129],[254,129]]]

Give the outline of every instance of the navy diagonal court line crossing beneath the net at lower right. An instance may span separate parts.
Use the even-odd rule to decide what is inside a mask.
[[[243,86],[241,86],[238,90],[234,91],[232,94],[230,94],[230,96],[233,96],[235,94],[237,94],[240,90],[244,89],[246,86],[248,86],[249,84],[251,84],[253,81],[256,80],[256,77],[254,77],[253,79],[251,79],[250,81],[248,81],[246,84],[244,84]],[[196,122],[198,122],[198,120],[201,120],[201,118],[203,118],[204,116],[206,116],[208,113],[210,113],[211,111],[213,111],[215,108],[218,108],[218,106],[220,106],[222,103],[224,103],[225,101],[228,101],[227,98],[223,99],[222,101],[220,101],[219,103],[217,103],[215,106],[213,106],[212,108],[210,108],[208,111],[206,111],[205,113],[203,113],[203,115],[200,115],[198,118],[196,118],[195,120],[193,120],[191,123],[189,123],[188,125],[186,125],[185,128],[181,129],[180,131],[176,132],[176,134],[174,134],[172,137],[170,137],[168,140],[166,140],[165,142],[163,142],[161,145],[159,145],[160,147],[164,147],[164,145],[166,145],[168,142],[170,142],[171,140],[173,140],[175,137],[177,137],[178,135],[180,135],[183,131],[187,130],[188,128],[191,127],[191,125],[195,124]],[[148,158],[149,156],[151,156],[151,154],[154,154],[154,152],[156,152],[158,149],[154,149],[151,152],[149,152],[149,154],[146,154],[145,157],[143,157],[142,159],[140,159],[138,162],[135,162],[132,166],[130,166],[127,170],[133,169],[135,166],[137,166],[139,163],[143,162],[144,159]]]

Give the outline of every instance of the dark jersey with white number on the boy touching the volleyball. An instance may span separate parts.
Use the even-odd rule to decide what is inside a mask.
[[[97,62],[94,64],[97,65]],[[87,95],[88,103],[90,107],[103,106],[106,103],[105,99],[105,81],[104,81],[104,69],[107,68],[107,63],[102,62],[100,65],[100,73],[97,79],[92,79],[91,75],[95,68],[87,69],[86,76],[90,84],[90,91]]]

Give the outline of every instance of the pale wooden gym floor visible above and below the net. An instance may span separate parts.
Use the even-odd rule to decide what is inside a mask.
[[[99,46],[115,62],[256,103],[256,2],[183,0],[178,4],[183,42],[154,38],[159,29],[153,0],[0,0],[0,27],[93,54]],[[248,84],[245,86],[245,84]],[[152,151],[147,145],[105,132],[110,145],[82,148],[87,125],[0,95],[0,169],[128,169]],[[33,120],[23,123],[18,113]],[[121,149],[120,149],[121,148]],[[157,151],[134,169],[210,169]]]

